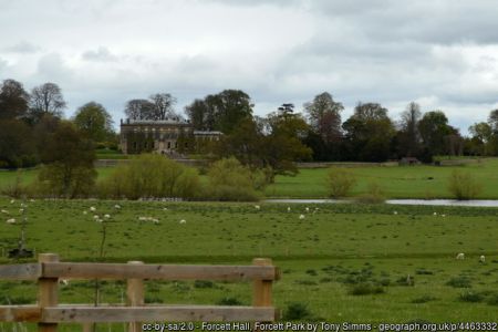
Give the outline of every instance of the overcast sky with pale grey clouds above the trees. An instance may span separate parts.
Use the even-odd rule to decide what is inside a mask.
[[[0,79],[58,83],[89,101],[176,110],[240,89],[264,115],[328,91],[345,106],[443,110],[463,133],[498,107],[495,0],[0,0]]]

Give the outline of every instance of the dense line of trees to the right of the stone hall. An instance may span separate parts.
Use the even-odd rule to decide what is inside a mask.
[[[242,91],[226,90],[186,106],[196,129],[226,135],[211,152],[235,155],[245,164],[288,168],[294,160],[385,162],[404,157],[430,163],[436,155],[498,155],[498,110],[488,122],[470,126],[470,137],[449,125],[440,110],[422,113],[412,102],[398,120],[378,103],[359,102],[342,121],[344,106],[323,92],[294,112],[282,104],[266,117],[252,113],[253,104]],[[190,147],[195,145],[188,145]]]

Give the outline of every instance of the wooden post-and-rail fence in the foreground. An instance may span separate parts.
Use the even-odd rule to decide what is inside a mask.
[[[252,266],[180,266],[60,262],[55,253],[42,253],[38,263],[0,266],[0,280],[37,280],[37,305],[0,305],[0,322],[37,322],[39,331],[56,331],[59,323],[126,322],[129,331],[142,331],[143,322],[270,322],[278,319],[271,304],[272,282],[280,278],[270,259],[256,258]],[[60,304],[59,279],[126,279],[126,307]],[[252,307],[146,305],[144,280],[252,281]]]

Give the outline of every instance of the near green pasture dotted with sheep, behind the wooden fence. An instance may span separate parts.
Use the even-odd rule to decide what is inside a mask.
[[[89,211],[94,206],[95,214],[111,215],[106,261],[235,264],[270,257],[283,271],[274,286],[276,305],[284,311],[295,302],[305,305],[304,320],[405,323],[497,318],[498,209],[292,205],[289,212],[287,205],[270,204],[260,209],[250,204],[143,201],[118,201],[122,208],[116,209],[115,204],[28,203],[28,247],[58,252],[66,261],[95,260],[102,225]],[[19,200],[0,198],[0,208],[10,212],[0,218],[19,218]],[[141,222],[138,217],[159,224]],[[181,219],[186,224],[179,224]],[[1,220],[2,252],[15,246],[19,232],[19,225]],[[458,252],[466,259],[456,260]],[[486,263],[478,261],[480,255]],[[9,260],[3,257],[0,262]],[[414,284],[407,284],[408,276]],[[120,303],[123,291],[123,282],[106,282],[103,301]],[[74,281],[62,287],[61,302],[92,302],[92,294],[91,283]],[[250,297],[246,283],[147,282],[146,301],[249,304]],[[34,284],[0,282],[0,303],[34,301]]]

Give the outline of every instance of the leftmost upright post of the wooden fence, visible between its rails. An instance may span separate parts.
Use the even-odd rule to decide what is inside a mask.
[[[38,261],[40,263],[44,262],[58,262],[59,255],[56,253],[40,253],[38,256]],[[39,278],[38,279],[38,305],[43,309],[46,307],[56,307],[59,303],[58,297],[58,278]],[[39,332],[55,332],[58,331],[56,323],[38,323]]]

